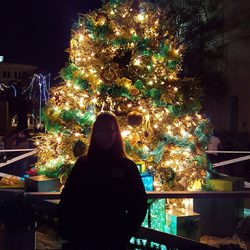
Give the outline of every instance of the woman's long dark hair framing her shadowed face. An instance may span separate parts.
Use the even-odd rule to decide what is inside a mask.
[[[112,155],[115,158],[126,157],[126,154],[125,154],[124,148],[123,148],[123,141],[122,141],[122,137],[121,137],[119,124],[118,124],[115,116],[108,113],[108,112],[100,113],[94,122],[94,125],[92,127],[91,136],[90,136],[90,144],[89,144],[87,157],[95,157],[98,153],[101,153],[102,150],[98,147],[97,142],[95,140],[95,133],[96,133],[97,124],[105,123],[105,122],[113,123],[114,129],[115,129],[115,142],[109,150],[111,151]]]

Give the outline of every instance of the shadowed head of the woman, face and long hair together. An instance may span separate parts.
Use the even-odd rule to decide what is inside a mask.
[[[124,157],[123,143],[118,122],[110,113],[100,113],[92,128],[88,155],[110,150],[114,156]]]

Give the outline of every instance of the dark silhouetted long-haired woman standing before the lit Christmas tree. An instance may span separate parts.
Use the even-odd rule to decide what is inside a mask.
[[[123,150],[118,122],[100,113],[87,155],[76,161],[61,193],[59,233],[68,249],[126,249],[147,212],[136,164]]]

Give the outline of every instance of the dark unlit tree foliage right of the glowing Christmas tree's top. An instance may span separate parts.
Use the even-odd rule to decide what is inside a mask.
[[[156,0],[165,9],[169,27],[185,47],[181,77],[201,79],[207,98],[227,91],[224,78],[224,6],[217,0]]]

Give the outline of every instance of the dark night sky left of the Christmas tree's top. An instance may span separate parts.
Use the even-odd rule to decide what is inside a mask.
[[[78,13],[101,0],[6,0],[0,8],[0,55],[56,76],[68,61],[70,29]]]

